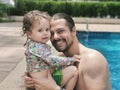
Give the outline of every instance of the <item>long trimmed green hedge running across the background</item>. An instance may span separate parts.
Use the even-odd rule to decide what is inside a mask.
[[[10,8],[11,15],[24,15],[30,10],[46,11],[50,15],[65,12],[71,16],[82,17],[120,17],[120,2],[56,2],[51,0],[17,0]]]

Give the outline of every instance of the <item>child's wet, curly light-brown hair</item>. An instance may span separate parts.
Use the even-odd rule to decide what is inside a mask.
[[[39,10],[32,10],[26,13],[23,18],[23,35],[26,34],[27,31],[31,31],[31,27],[36,20],[40,21],[42,18],[50,21],[51,17],[48,13]]]

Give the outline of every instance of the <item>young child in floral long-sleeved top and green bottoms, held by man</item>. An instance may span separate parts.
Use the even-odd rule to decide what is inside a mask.
[[[50,16],[38,10],[30,11],[24,16],[23,33],[27,35],[25,51],[27,71],[30,77],[40,80],[46,80],[48,74],[52,74],[59,86],[73,90],[78,73],[72,64],[79,59],[76,56],[60,57],[51,53],[50,46],[46,44],[51,36],[49,22]]]

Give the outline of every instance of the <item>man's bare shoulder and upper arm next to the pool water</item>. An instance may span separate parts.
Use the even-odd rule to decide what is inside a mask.
[[[86,60],[82,68],[86,90],[111,90],[108,64],[104,56],[93,51]]]

